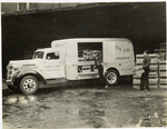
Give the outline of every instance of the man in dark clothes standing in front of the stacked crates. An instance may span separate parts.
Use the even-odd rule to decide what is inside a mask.
[[[143,61],[143,69],[145,72],[143,73],[140,79],[140,90],[144,90],[144,86],[147,91],[149,90],[149,81],[148,81],[149,66],[150,66],[150,57],[148,56],[148,50],[145,50]]]

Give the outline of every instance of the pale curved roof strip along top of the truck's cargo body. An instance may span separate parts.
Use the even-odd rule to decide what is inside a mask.
[[[66,41],[79,41],[79,42],[81,42],[81,41],[109,41],[109,40],[130,41],[129,39],[126,39],[126,38],[71,38],[71,39],[53,40],[52,42],[66,42]]]

